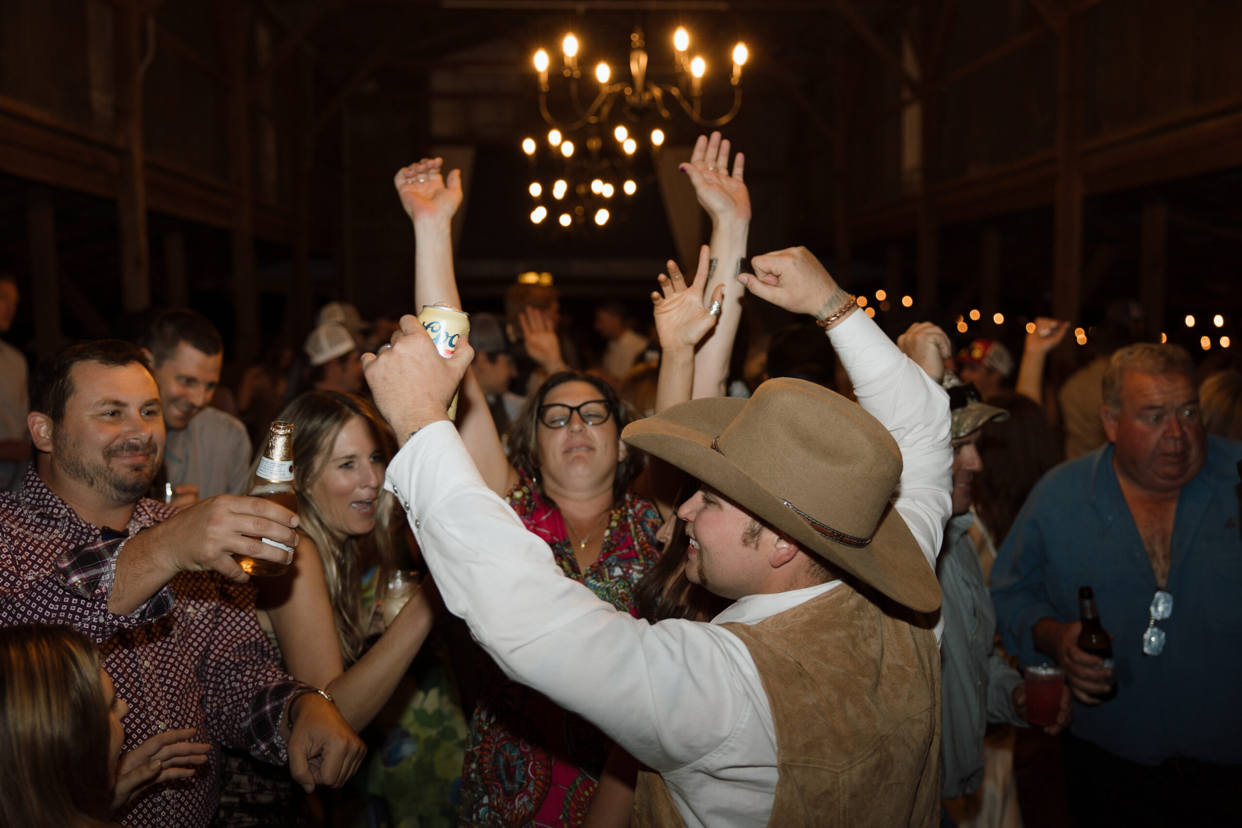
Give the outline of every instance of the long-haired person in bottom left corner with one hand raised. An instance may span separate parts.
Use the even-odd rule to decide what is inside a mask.
[[[124,756],[129,713],[72,627],[0,628],[0,826],[93,828],[143,788],[194,775],[210,745],[170,730]]]

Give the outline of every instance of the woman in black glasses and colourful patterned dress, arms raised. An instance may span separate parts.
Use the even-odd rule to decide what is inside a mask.
[[[728,142],[720,142],[719,135],[713,140],[713,159],[724,155],[728,160]],[[705,139],[700,143],[708,145]],[[739,161],[735,179],[715,176],[715,165],[705,175],[713,176],[712,181],[725,179],[732,197],[744,200],[740,174]],[[440,159],[424,160],[400,170],[395,184],[417,241],[415,303],[460,307],[448,243],[450,221],[462,199],[458,174],[446,179]],[[749,216],[749,201],[745,204]],[[735,246],[740,250],[743,243],[744,238]],[[715,287],[708,297],[709,309],[704,308],[712,264],[704,248],[699,278],[692,287],[684,286],[676,267],[669,268],[672,279],[661,277],[664,297],[656,302],[657,314],[666,328],[678,331],[678,341],[676,348],[664,349],[663,403],[657,400],[657,407],[691,397],[696,345],[714,328],[724,299],[724,288]],[[735,313],[740,314],[740,308]],[[728,326],[728,336],[717,338],[708,350],[709,355],[723,350],[722,365],[728,362],[737,319]],[[528,349],[534,345],[529,336]],[[550,336],[548,345],[555,346],[555,333]],[[704,371],[704,376],[714,374]],[[715,380],[713,385],[723,387],[723,376]],[[652,503],[632,492],[643,463],[621,442],[630,420],[631,412],[606,381],[563,371],[527,400],[512,426],[505,457],[487,401],[468,372],[457,430],[484,482],[505,498],[528,530],[548,542],[564,574],[637,616],[633,587],[660,556],[656,533],[662,518]],[[597,785],[611,785],[601,780],[611,778],[611,772],[604,773],[611,749],[611,740],[594,726],[509,682],[488,663],[467,736],[458,824],[580,826]],[[628,822],[628,809],[622,809]]]

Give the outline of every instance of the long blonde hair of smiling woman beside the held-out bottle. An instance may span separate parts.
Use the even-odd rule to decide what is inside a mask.
[[[328,525],[323,511],[310,497],[310,488],[323,474],[337,436],[355,417],[366,425],[384,454],[385,464],[390,463],[397,449],[396,437],[365,397],[338,391],[308,391],[284,406],[277,416],[277,420],[293,423],[293,485],[298,493],[298,531],[319,547],[340,654],[347,665],[363,654],[370,626],[370,613],[363,608],[363,564],[374,561],[379,566],[376,597],[383,598],[389,576],[396,570],[396,534],[405,518],[396,498],[380,489],[375,505],[375,529],[366,535],[348,536]]]

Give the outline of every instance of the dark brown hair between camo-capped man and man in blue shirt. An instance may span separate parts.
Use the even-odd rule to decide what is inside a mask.
[[[1057,437],[1033,400],[1013,391],[989,397],[987,405],[1010,412],[1005,422],[984,426],[979,457],[984,470],[971,487],[975,509],[1000,547],[1013,519],[1045,472],[1061,462]]]

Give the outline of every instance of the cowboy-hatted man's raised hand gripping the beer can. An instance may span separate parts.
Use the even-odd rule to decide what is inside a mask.
[[[448,403],[473,359],[466,335],[445,359],[419,318],[406,314],[390,345],[363,354],[363,372],[375,406],[404,443],[424,426],[448,418]]]

